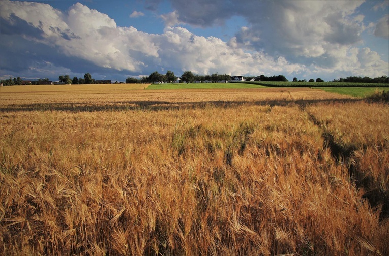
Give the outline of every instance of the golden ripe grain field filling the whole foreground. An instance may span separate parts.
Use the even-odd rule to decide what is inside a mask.
[[[0,88],[0,254],[389,254],[387,103],[121,86]]]

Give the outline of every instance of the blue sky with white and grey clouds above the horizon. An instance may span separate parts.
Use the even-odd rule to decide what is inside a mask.
[[[389,76],[389,0],[0,0],[0,80]]]

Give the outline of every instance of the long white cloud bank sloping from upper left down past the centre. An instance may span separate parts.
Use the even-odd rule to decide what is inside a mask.
[[[21,22],[15,20],[22,20],[24,26],[35,29],[29,33],[31,38],[23,39],[25,44],[31,40],[49,47],[53,55],[57,51],[55,55],[83,59],[101,68],[140,73],[148,68],[170,67],[200,74],[295,70],[288,62],[273,60],[263,52],[245,53],[219,38],[199,37],[182,27],[167,27],[161,35],[143,33],[134,27],[118,27],[106,14],[80,3],[71,6],[67,13],[49,5],[34,4],[36,15],[33,16],[26,15],[31,10],[28,2],[2,3],[8,11],[1,18],[10,26],[9,30],[19,29],[15,26]],[[68,36],[64,37],[64,33]]]

